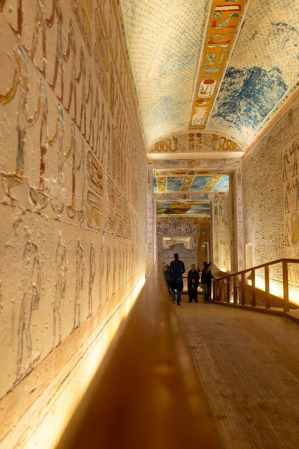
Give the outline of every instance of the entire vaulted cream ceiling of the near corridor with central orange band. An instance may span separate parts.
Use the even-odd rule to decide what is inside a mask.
[[[299,1],[117,5],[150,152],[244,151],[299,87]]]

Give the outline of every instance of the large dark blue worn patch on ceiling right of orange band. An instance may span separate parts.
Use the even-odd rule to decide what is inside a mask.
[[[278,67],[268,71],[261,67],[248,70],[230,67],[225,74],[218,111],[213,118],[221,117],[240,130],[243,127],[254,130],[287,88]]]

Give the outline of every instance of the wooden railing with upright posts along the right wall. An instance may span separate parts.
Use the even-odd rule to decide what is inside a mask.
[[[277,266],[275,267],[275,265]],[[258,297],[259,304],[264,303],[265,308],[270,309],[273,306],[271,305],[272,299],[274,306],[282,306],[284,313],[289,312],[290,288],[294,299],[297,299],[295,302],[299,301],[299,283],[293,282],[291,285],[289,282],[289,273],[293,265],[296,265],[293,272],[295,272],[295,280],[297,280],[297,276],[299,278],[299,259],[286,258],[214,279],[213,301],[222,303],[226,301],[233,305],[256,307]],[[273,267],[273,271],[276,272],[274,278],[270,278],[270,267]],[[257,271],[260,272],[257,274]],[[248,274],[249,276],[247,276]],[[271,286],[273,291],[271,291]]]

